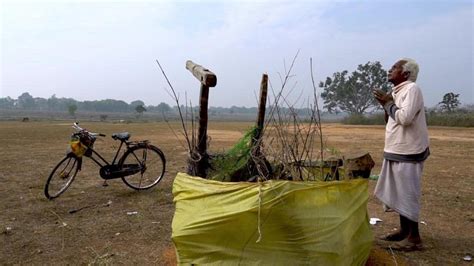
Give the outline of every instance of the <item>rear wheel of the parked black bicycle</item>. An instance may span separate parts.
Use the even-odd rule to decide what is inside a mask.
[[[166,159],[163,152],[149,144],[138,145],[127,150],[120,159],[122,171],[129,173],[123,182],[136,190],[143,190],[158,184],[165,173]]]

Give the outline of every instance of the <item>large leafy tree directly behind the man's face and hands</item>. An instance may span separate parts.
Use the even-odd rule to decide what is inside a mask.
[[[321,97],[324,108],[330,113],[343,111],[360,115],[379,106],[372,89],[388,91],[390,84],[380,62],[367,62],[351,74],[347,70],[334,73],[332,78],[321,81],[319,87],[324,89]]]

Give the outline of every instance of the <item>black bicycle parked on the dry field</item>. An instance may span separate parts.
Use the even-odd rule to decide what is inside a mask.
[[[53,168],[46,181],[44,187],[46,198],[52,200],[67,190],[82,169],[83,157],[90,158],[100,167],[99,174],[103,179],[121,178],[127,186],[135,190],[149,189],[163,178],[166,167],[165,155],[148,140],[129,141],[131,135],[128,132],[112,134],[112,139],[119,140],[120,146],[112,162],[109,163],[93,148],[97,137],[105,137],[105,134],[89,132],[77,123],[72,127],[75,132],[71,135],[66,157]],[[117,160],[122,146],[125,151]]]

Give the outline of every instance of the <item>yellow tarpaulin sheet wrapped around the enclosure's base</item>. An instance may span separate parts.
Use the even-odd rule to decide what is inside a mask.
[[[180,264],[363,265],[372,246],[367,180],[231,183],[178,173],[173,195]]]

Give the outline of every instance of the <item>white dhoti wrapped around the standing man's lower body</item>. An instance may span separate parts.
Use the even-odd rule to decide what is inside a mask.
[[[383,160],[375,196],[386,206],[418,222],[420,217],[423,162]]]

